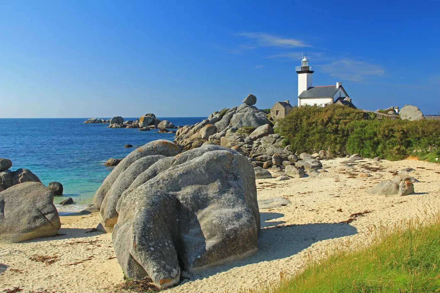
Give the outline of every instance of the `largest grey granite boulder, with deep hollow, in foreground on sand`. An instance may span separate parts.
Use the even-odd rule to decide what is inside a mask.
[[[260,213],[246,157],[206,145],[155,164],[168,163],[117,203],[112,238],[125,275],[166,288],[182,269],[198,272],[257,253]]]

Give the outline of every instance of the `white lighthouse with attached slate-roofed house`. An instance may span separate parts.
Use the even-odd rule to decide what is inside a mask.
[[[296,66],[298,73],[298,106],[328,106],[330,104],[341,104],[356,108],[352,104],[352,99],[342,87],[342,82],[336,85],[312,85],[312,74],[315,72],[312,66],[308,65],[308,60],[304,57],[301,66]]]

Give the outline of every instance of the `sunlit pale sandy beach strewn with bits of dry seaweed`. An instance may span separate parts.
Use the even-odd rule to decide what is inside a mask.
[[[363,161],[371,165],[359,163],[350,173],[357,175],[363,168],[361,165],[384,170],[371,172],[373,176],[369,178],[348,178],[347,171],[333,168],[344,160],[322,161],[329,172],[317,177],[286,181],[258,179],[259,199],[282,196],[291,204],[270,210],[260,209],[262,229],[257,255],[198,275],[183,273],[187,279],[168,291],[232,293],[237,289],[257,286],[261,281],[276,281],[280,271],[292,274],[295,269],[301,268],[301,255],[304,253],[323,251],[326,245],[346,238],[360,241],[370,224],[377,224],[380,220],[393,223],[417,215],[422,217],[425,207],[433,211],[440,209],[440,164],[365,159]],[[406,167],[416,169],[411,176],[422,181],[414,183],[416,194],[399,198],[365,194],[374,183],[392,179],[394,176],[389,171]],[[352,223],[339,223],[348,220],[351,214],[363,211],[372,212]],[[99,223],[99,213],[61,219],[59,233],[66,234],[64,236],[1,245],[0,264],[9,267],[0,274],[0,292],[14,286],[23,288],[23,293],[44,289],[62,293],[115,292],[114,286],[123,282],[123,272],[116,258],[109,260],[115,256],[111,234],[85,233]],[[87,243],[90,241],[96,242]],[[69,244],[72,242],[84,243]],[[59,261],[46,265],[30,260],[33,255],[56,255]],[[83,262],[73,264],[79,261]]]

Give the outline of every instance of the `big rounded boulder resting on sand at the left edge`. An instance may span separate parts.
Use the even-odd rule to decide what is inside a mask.
[[[0,242],[54,236],[61,227],[51,190],[25,182],[0,192]]]

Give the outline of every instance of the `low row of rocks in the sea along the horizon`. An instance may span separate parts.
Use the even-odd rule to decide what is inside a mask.
[[[174,124],[172,124],[168,120],[161,121],[156,118],[156,115],[153,113],[147,113],[139,119],[127,120],[124,121],[124,118],[121,116],[115,116],[111,119],[104,120],[99,118],[90,118],[84,123],[109,123],[109,128],[139,128],[139,131],[148,131],[150,129],[159,129],[159,132],[176,132],[170,131],[167,128],[177,128]]]

